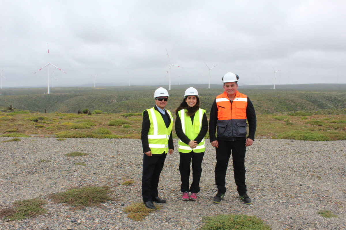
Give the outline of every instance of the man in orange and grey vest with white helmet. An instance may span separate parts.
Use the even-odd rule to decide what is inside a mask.
[[[231,154],[239,198],[245,204],[252,203],[246,190],[244,162],[246,147],[255,140],[256,113],[250,99],[238,92],[238,79],[238,75],[231,72],[222,77],[225,91],[216,97],[210,111],[209,135],[211,145],[216,148],[215,184],[218,188],[214,203],[224,199],[226,171]],[[247,137],[246,120],[249,123]]]

